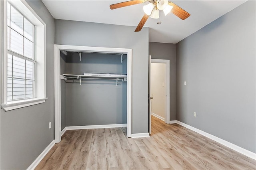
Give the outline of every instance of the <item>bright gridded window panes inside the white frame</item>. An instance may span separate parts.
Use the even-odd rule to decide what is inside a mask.
[[[7,101],[35,98],[34,25],[7,4]]]

